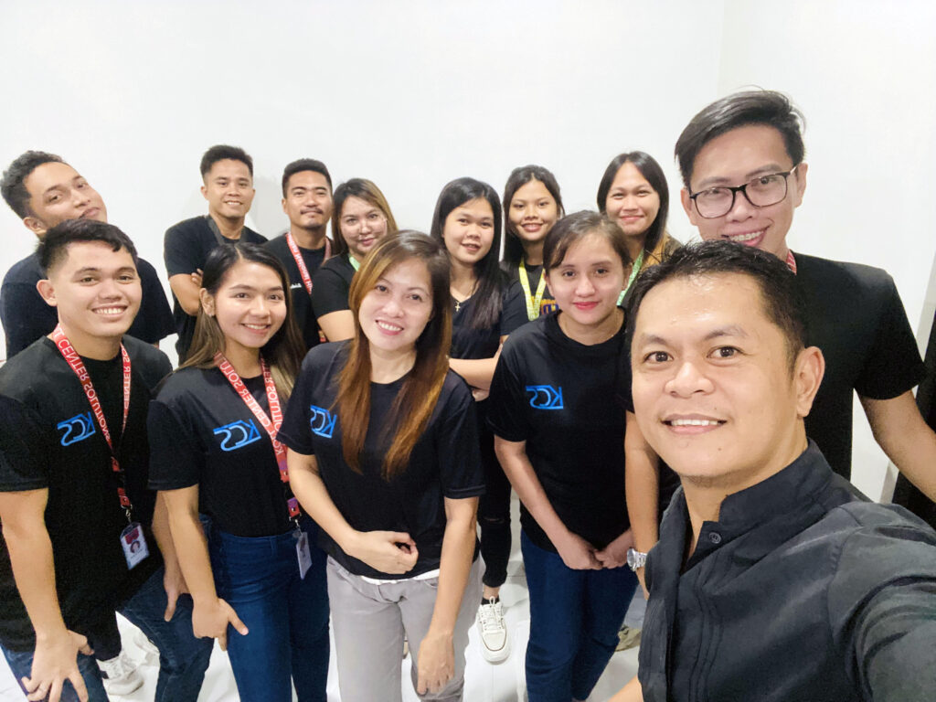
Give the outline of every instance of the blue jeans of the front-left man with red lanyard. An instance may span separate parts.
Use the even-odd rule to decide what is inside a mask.
[[[192,634],[192,598],[182,595],[172,621],[164,621],[166,591],[163,589],[163,569],[160,568],[119,611],[139,626],[159,649],[159,678],[154,701],[196,702],[212,656],[213,642],[210,638],[199,639]],[[30,676],[33,651],[4,650],[4,654],[17,682]],[[88,688],[89,702],[107,702],[108,695],[101,683],[101,671],[94,656],[79,655],[78,666]],[[78,702],[78,695],[69,682],[65,684],[62,700]]]

